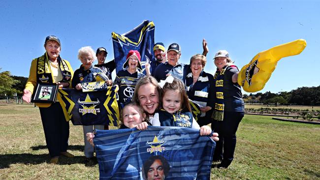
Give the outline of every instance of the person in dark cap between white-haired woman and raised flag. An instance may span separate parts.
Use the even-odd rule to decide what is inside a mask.
[[[114,60],[110,60],[107,63],[104,63],[107,57],[107,50],[104,47],[100,47],[96,50],[96,58],[98,60],[98,64],[95,67],[98,67],[102,70],[102,72],[107,75],[109,80],[106,81],[107,85],[112,85],[112,71],[116,68],[116,63]]]

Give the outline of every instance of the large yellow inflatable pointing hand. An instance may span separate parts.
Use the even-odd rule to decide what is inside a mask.
[[[247,92],[262,90],[277,62],[284,57],[300,54],[307,46],[304,39],[281,44],[258,53],[238,74],[238,84]]]

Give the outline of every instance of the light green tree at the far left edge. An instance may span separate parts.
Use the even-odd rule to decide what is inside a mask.
[[[1,70],[2,68],[0,68]],[[14,80],[11,77],[10,71],[0,72],[0,95],[13,95],[19,93],[19,90],[12,88],[13,85],[19,83],[18,80]]]

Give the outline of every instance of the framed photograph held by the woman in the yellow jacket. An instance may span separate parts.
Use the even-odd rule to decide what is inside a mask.
[[[58,93],[58,85],[53,83],[38,83],[31,102],[55,103]]]

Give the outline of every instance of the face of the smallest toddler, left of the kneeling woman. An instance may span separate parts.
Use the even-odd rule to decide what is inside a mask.
[[[122,110],[123,123],[128,128],[135,127],[136,124],[144,120],[144,115],[136,105],[127,105]]]

